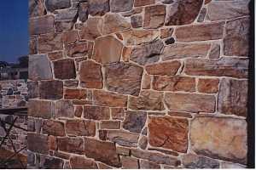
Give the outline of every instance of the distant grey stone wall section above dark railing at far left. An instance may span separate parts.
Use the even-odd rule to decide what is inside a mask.
[[[0,109],[26,107],[27,95],[25,80],[0,81]]]

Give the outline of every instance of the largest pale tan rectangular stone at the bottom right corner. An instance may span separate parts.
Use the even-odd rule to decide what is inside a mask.
[[[198,116],[191,122],[192,150],[204,156],[245,164],[247,122],[236,118]]]

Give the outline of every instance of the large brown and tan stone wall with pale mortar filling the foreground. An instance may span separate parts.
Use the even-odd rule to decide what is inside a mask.
[[[245,167],[248,0],[30,0],[28,162]]]

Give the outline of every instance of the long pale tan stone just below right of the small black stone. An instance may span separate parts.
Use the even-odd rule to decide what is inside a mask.
[[[161,58],[163,60],[168,59],[183,59],[183,58],[205,58],[211,44],[199,43],[199,44],[185,44],[174,43],[164,48]]]

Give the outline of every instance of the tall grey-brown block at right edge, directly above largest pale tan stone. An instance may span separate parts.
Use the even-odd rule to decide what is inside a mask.
[[[222,79],[218,111],[227,115],[247,116],[247,86],[247,80]]]

